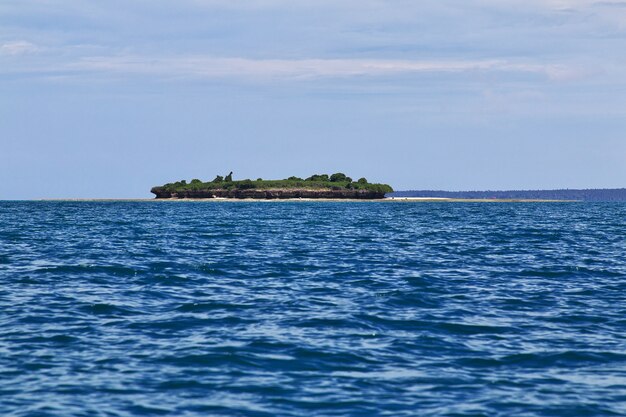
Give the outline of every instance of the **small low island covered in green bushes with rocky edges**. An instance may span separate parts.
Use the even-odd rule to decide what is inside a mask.
[[[355,199],[376,200],[393,192],[387,184],[372,184],[365,178],[353,181],[338,172],[332,175],[316,174],[306,179],[289,177],[284,180],[233,180],[233,173],[213,181],[192,179],[153,187],[157,199]]]

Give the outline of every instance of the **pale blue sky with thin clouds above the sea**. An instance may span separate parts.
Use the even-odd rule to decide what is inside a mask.
[[[1,0],[0,199],[626,186],[626,1]]]

